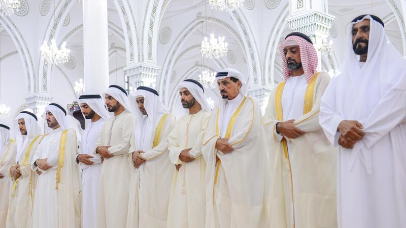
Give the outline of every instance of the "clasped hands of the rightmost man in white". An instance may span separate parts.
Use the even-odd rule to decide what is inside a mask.
[[[346,149],[354,148],[355,143],[360,141],[365,135],[362,128],[362,124],[356,120],[341,121],[338,127],[341,133],[339,145]]]

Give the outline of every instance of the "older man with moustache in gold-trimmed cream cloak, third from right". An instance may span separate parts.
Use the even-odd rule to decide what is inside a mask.
[[[267,227],[268,155],[257,99],[234,69],[216,74],[222,97],[202,141],[206,227]]]

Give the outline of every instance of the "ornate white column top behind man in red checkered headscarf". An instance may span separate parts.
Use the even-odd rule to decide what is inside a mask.
[[[315,45],[321,70],[320,48],[323,39],[328,38],[334,16],[328,14],[327,0],[289,0],[289,17],[286,21],[289,28],[295,32],[308,35]]]

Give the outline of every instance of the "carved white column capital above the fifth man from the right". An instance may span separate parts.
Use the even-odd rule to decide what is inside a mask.
[[[135,90],[138,86],[151,86],[155,88],[156,77],[161,68],[148,64],[136,63],[124,68],[125,75],[128,76],[128,83]]]

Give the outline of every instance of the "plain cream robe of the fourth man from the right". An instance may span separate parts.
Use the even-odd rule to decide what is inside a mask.
[[[210,113],[200,110],[179,119],[169,136],[170,158],[181,164],[175,170],[168,209],[168,228],[204,228],[206,220],[205,172],[206,161],[201,153],[201,136],[207,127]],[[199,138],[200,136],[200,138]],[[192,148],[191,162],[182,162],[179,155]]]

